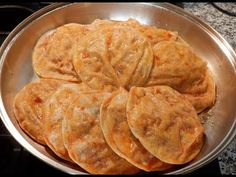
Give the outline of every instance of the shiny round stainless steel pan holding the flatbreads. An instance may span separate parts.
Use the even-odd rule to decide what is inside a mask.
[[[0,49],[0,113],[14,138],[53,167],[70,174],[85,173],[32,141],[18,126],[12,103],[16,93],[37,78],[31,62],[37,39],[44,32],[65,23],[86,24],[96,18],[121,21],[135,18],[141,23],[178,31],[207,61],[217,84],[217,101],[211,110],[202,115],[205,120],[205,145],[194,161],[165,173],[188,173],[216,158],[236,134],[236,54],[214,29],[183,9],[167,3],[58,3],[39,10],[18,25]]]

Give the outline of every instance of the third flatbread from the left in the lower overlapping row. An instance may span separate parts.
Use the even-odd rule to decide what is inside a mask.
[[[70,158],[92,174],[132,174],[138,168],[106,143],[99,121],[100,105],[109,93],[81,93],[69,106],[62,134]]]

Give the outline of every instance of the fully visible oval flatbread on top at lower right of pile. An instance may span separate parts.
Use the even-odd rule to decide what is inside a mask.
[[[187,163],[202,148],[204,128],[195,109],[169,86],[132,87],[127,120],[134,136],[163,162]]]

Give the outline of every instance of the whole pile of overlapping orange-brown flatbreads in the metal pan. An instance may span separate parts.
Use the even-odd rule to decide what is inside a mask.
[[[215,102],[207,63],[177,32],[95,20],[44,34],[39,76],[18,92],[20,127],[91,174],[170,170],[204,144],[198,114]]]

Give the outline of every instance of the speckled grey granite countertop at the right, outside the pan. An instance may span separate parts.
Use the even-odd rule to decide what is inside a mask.
[[[236,12],[236,3],[215,3],[222,9]],[[236,51],[236,16],[221,12],[212,3],[183,3],[183,8],[218,31]],[[236,138],[218,157],[222,174],[236,175]]]

